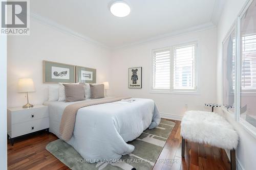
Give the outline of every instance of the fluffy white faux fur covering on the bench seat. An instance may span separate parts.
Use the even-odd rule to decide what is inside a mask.
[[[187,111],[182,118],[180,134],[189,141],[228,150],[238,145],[238,133],[224,117],[214,112]]]

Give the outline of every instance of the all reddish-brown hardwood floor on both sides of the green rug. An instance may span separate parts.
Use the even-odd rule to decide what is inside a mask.
[[[159,162],[153,167],[154,170],[230,169],[224,150],[203,144],[186,142],[185,158],[181,158],[180,121],[173,121],[176,125],[159,155]],[[49,142],[56,139],[53,134],[38,132],[16,139],[13,146],[8,143],[8,169],[69,169],[45,149]]]

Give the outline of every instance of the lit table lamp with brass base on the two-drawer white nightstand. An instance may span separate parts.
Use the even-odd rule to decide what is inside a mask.
[[[23,108],[30,108],[33,105],[29,104],[29,95],[28,92],[35,91],[34,82],[30,78],[23,78],[18,80],[18,92],[27,94],[27,104],[23,106]]]

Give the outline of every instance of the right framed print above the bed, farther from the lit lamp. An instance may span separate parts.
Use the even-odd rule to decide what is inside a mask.
[[[96,83],[96,69],[76,66],[76,82]]]

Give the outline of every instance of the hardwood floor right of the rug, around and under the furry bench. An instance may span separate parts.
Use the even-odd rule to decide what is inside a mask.
[[[187,142],[185,144],[185,158],[181,157],[181,136],[180,121],[174,120],[176,123],[172,134],[170,134],[165,146],[159,155],[154,170],[162,169],[230,169],[230,162],[223,149],[210,147],[204,144]],[[173,160],[173,162],[172,162]],[[170,163],[169,163],[170,162]]]

